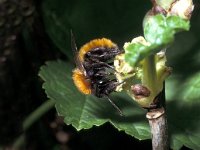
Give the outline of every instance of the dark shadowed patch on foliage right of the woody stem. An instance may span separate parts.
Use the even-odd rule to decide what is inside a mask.
[[[181,100],[179,100],[181,101]],[[198,100],[197,100],[198,101]],[[200,103],[180,104],[178,100],[167,103],[170,137],[174,134],[199,135]]]

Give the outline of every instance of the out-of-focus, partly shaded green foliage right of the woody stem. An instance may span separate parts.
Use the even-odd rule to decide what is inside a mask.
[[[196,20],[192,22],[196,26],[199,23]],[[178,34],[176,42],[168,49],[169,53],[167,51],[168,64],[173,68],[166,81],[170,144],[173,149],[180,149],[183,145],[200,149],[200,43],[194,29],[191,26],[189,32]]]

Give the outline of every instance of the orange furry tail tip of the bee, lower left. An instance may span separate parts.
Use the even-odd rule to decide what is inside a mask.
[[[78,90],[83,94],[91,94],[90,82],[80,69],[74,69],[72,79]]]

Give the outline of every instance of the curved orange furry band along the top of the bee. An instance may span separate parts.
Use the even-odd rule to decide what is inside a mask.
[[[78,53],[78,57],[80,61],[83,62],[85,54],[96,47],[112,48],[112,47],[116,47],[116,44],[106,38],[92,40],[81,47]]]

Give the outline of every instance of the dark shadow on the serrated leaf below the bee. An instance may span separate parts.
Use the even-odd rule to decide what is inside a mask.
[[[145,110],[137,106],[136,103],[125,94],[118,94],[112,97],[113,102],[120,108],[123,116],[106,100],[102,99],[102,103],[107,103],[93,112],[98,118],[109,119],[115,122],[134,123],[144,121]],[[104,102],[103,102],[104,101]]]

